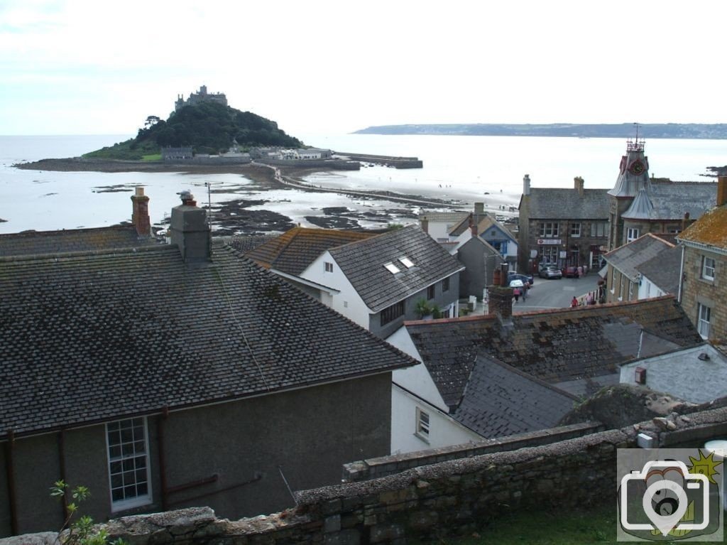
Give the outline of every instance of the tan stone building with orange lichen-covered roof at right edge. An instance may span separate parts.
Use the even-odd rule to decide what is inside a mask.
[[[727,176],[716,207],[677,236],[683,247],[680,302],[702,337],[727,339]]]

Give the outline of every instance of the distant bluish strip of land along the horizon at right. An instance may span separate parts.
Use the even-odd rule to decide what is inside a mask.
[[[567,138],[634,138],[633,123],[620,124],[408,124],[379,125],[353,132],[355,135],[457,135],[544,136]],[[727,139],[727,124],[662,123],[639,124],[640,138]]]

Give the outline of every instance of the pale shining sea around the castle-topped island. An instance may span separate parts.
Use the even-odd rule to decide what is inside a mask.
[[[26,230],[111,226],[130,220],[134,187],[144,186],[150,197],[152,223],[161,225],[178,193],[189,189],[199,204],[237,199],[258,201],[249,210],[272,210],[294,223],[331,209],[345,209],[364,227],[380,227],[367,220],[388,212],[387,220],[411,223],[416,205],[387,199],[361,199],[339,193],[312,193],[294,188],[265,191],[236,174],[170,172],[49,172],[19,170],[20,162],[74,157],[130,138],[130,135],[0,136],[0,233]],[[427,211],[469,210],[484,202],[488,210],[517,207],[523,176],[531,187],[572,187],[581,176],[586,188],[611,188],[616,182],[625,138],[538,138],[454,135],[297,135],[309,146],[337,152],[416,156],[421,169],[399,170],[367,166],[359,171],[319,172],[306,181],[327,188],[395,191],[443,199],[451,203]],[[650,174],[680,181],[713,181],[708,167],[727,164],[727,140],[646,140]],[[208,188],[211,191],[208,191]],[[3,221],[4,220],[4,221]]]

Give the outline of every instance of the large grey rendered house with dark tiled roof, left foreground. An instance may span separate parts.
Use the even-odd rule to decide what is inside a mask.
[[[129,228],[0,237],[0,536],[60,528],[58,480],[94,520],[234,519],[390,452],[413,359],[212,239],[188,192],[172,244],[132,201]]]

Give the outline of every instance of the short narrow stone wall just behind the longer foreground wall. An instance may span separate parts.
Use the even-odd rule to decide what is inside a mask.
[[[364,481],[401,473],[406,469],[412,469],[414,467],[438,464],[457,458],[471,458],[472,456],[497,453],[503,450],[516,450],[523,447],[547,445],[565,439],[593,434],[596,431],[603,431],[605,427],[599,422],[583,422],[569,426],[560,426],[558,428],[529,431],[500,439],[483,439],[482,441],[462,445],[369,458],[367,460],[344,464],[342,480],[343,482]]]

